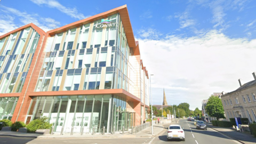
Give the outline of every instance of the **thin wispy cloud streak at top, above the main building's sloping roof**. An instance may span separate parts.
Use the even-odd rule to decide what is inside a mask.
[[[84,14],[79,13],[75,7],[70,8],[70,7],[63,6],[58,1],[55,1],[55,0],[30,0],[30,1],[37,5],[46,5],[48,7],[55,8],[65,14],[69,15],[71,18],[81,20],[81,19],[90,17],[89,15],[85,17]]]

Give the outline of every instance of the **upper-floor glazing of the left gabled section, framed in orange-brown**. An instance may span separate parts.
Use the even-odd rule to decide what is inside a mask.
[[[0,93],[21,92],[38,40],[30,27],[0,39]]]

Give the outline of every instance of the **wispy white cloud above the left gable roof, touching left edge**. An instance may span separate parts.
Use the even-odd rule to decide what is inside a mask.
[[[38,14],[21,12],[17,9],[13,9],[11,7],[6,7],[3,5],[1,5],[1,7],[3,8],[2,11],[6,14],[0,15],[0,17],[2,18],[0,20],[0,26],[2,26],[0,28],[0,32],[2,34],[8,33],[11,30],[17,29],[23,25],[27,25],[28,23],[34,23],[36,26],[40,27],[44,31],[58,28],[60,25],[59,21],[55,21],[52,18],[42,18],[39,17]],[[15,24],[18,22],[14,23],[14,19],[18,19],[21,23],[19,25]]]

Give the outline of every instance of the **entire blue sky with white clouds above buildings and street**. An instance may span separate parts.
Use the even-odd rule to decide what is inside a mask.
[[[0,35],[28,23],[49,31],[127,5],[141,59],[151,76],[153,105],[187,102],[191,110],[214,92],[253,81],[256,1],[0,0]]]

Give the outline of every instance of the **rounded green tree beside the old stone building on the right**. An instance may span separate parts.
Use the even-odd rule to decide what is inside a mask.
[[[205,110],[206,113],[208,113],[210,116],[216,117],[217,121],[219,121],[219,118],[225,118],[224,109],[219,97],[211,95],[211,97],[208,99],[208,102],[206,103]]]

